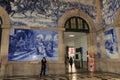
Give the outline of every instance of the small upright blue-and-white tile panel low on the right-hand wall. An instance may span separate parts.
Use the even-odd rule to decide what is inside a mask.
[[[105,38],[106,58],[108,59],[119,58],[116,30],[110,29],[105,31],[104,38]]]

